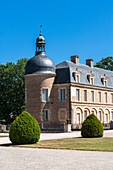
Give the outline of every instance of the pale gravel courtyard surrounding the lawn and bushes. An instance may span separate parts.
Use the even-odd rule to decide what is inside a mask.
[[[104,136],[113,137],[113,130],[106,130]],[[80,137],[80,132],[41,134],[41,140],[64,137]],[[8,138],[0,138],[0,144],[8,142]],[[0,146],[0,169],[113,170],[113,152],[32,149]]]

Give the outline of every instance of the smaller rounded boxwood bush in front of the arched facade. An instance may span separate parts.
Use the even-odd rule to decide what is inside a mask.
[[[89,115],[83,122],[81,135],[86,138],[103,136],[103,125],[94,114]]]

